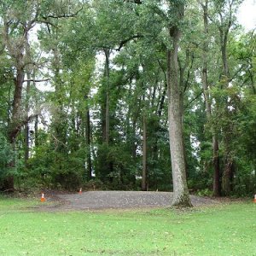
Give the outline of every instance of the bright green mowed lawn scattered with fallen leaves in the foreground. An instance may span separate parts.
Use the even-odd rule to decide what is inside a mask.
[[[0,255],[256,255],[256,204],[40,212],[0,197]]]

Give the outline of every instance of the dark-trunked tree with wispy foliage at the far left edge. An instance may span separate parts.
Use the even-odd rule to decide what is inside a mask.
[[[26,3],[3,2],[0,5],[3,15],[3,45],[8,50],[14,66],[14,97],[12,102],[11,117],[9,119],[9,143],[15,148],[15,139],[23,125],[26,125],[33,115],[26,116],[22,113],[22,89],[25,81],[26,68],[32,63],[29,58],[28,33],[32,30],[38,19],[38,4],[28,1]],[[34,11],[34,9],[36,9]],[[10,165],[14,166],[12,162]],[[6,188],[14,190],[14,177],[9,176]]]

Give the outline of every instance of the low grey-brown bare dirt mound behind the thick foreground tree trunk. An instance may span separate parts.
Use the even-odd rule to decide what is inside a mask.
[[[45,194],[49,205],[40,207],[45,211],[67,210],[101,210],[101,209],[132,209],[150,207],[170,207],[172,192],[144,192],[144,191],[88,191],[82,194]],[[218,204],[218,201],[190,195],[195,207]]]

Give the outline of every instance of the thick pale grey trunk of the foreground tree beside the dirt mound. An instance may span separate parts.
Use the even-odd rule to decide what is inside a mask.
[[[177,13],[183,18],[183,3],[177,3]],[[186,178],[183,148],[183,122],[180,88],[178,83],[177,49],[180,31],[177,26],[170,28],[172,49],[167,49],[168,120],[170,150],[172,159],[173,201],[172,206],[191,207]]]

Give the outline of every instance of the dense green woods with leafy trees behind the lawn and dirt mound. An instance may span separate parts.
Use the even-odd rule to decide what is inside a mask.
[[[241,3],[1,1],[0,189],[172,190],[173,110],[189,190],[252,195],[256,35]]]

